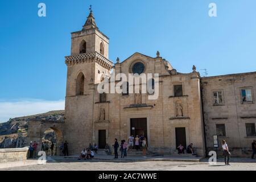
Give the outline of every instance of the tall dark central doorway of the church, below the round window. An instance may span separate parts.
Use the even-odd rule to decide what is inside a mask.
[[[131,135],[147,138],[147,118],[131,118]]]

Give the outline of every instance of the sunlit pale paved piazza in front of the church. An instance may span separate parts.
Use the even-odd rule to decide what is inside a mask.
[[[222,159],[220,159],[222,160]],[[210,166],[207,160],[203,162],[97,162],[97,160],[55,160],[46,165],[31,165],[13,168],[3,168],[2,171],[225,171],[245,170],[256,171],[256,160],[232,159],[231,166],[224,166],[224,163],[217,163],[217,166]]]

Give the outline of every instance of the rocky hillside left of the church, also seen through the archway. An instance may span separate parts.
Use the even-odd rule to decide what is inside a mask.
[[[26,143],[27,122],[29,119],[63,121],[64,110],[49,111],[43,114],[12,118],[5,123],[0,123],[0,148],[23,147]],[[43,139],[54,142],[56,137],[51,130],[48,130],[46,131],[46,135]]]

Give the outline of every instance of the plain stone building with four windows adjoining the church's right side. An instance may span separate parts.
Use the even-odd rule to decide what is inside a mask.
[[[233,155],[247,155],[256,139],[256,72],[201,78],[208,150],[213,135],[228,141]]]

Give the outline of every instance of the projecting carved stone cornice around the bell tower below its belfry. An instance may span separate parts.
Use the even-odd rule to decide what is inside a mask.
[[[108,69],[111,69],[114,65],[112,61],[106,59],[106,57],[102,56],[96,51],[90,53],[80,53],[78,55],[72,56],[65,56],[65,64],[67,64],[68,66],[81,63],[90,63],[93,61],[96,61],[96,63]]]

